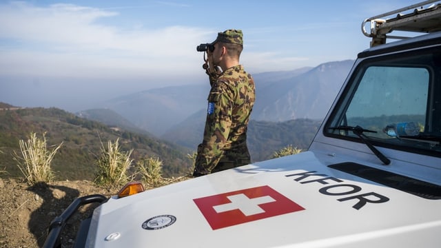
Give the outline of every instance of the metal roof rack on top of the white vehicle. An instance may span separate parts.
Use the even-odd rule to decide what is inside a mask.
[[[386,35],[392,31],[404,32],[424,32],[430,33],[441,30],[441,3],[435,3],[440,0],[422,1],[398,10],[393,10],[384,14],[379,14],[375,17],[365,19],[362,22],[362,33],[367,37],[371,37],[370,46],[376,46],[386,43],[386,39],[407,39],[410,37],[400,37]],[[433,3],[431,6],[424,8],[424,5]],[[408,14],[401,14],[400,12],[414,9]],[[397,14],[396,17],[389,19],[382,19],[389,17],[392,14]],[[367,23],[371,24],[371,32],[365,30]]]

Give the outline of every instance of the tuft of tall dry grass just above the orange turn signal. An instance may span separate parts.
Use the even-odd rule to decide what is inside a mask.
[[[119,147],[119,138],[114,143],[107,141],[107,149],[101,143],[101,154],[96,161],[98,172],[94,182],[104,186],[121,186],[127,183],[130,178],[127,176],[127,169],[132,165],[130,152],[122,152]]]

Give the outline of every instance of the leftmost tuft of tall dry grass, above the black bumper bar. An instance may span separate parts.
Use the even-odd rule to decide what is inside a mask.
[[[52,172],[50,165],[63,142],[50,151],[46,145],[45,133],[41,139],[37,137],[37,134],[31,132],[28,141],[20,140],[19,145],[21,156],[14,152],[14,161],[17,161],[17,166],[25,176],[25,181],[34,185],[53,180],[54,172]]]

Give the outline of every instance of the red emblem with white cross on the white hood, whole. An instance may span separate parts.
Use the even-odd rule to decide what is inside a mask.
[[[269,186],[193,200],[213,230],[304,209]]]

